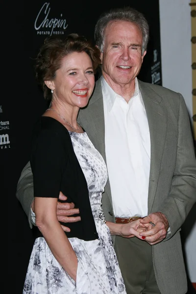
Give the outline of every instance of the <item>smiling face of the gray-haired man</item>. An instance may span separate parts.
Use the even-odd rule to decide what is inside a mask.
[[[142,32],[130,22],[110,22],[105,32],[105,43],[101,53],[102,74],[111,84],[134,83],[140,72],[143,58]]]

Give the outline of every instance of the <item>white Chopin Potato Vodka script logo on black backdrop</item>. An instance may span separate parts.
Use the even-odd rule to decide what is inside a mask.
[[[38,35],[64,34],[64,30],[68,27],[66,19],[49,18],[49,3],[44,3],[35,20],[34,27]],[[62,18],[61,13],[61,18]]]

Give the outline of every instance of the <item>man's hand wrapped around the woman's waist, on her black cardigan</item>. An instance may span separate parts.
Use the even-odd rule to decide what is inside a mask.
[[[62,192],[60,192],[59,194],[59,199],[60,200],[67,200],[67,197],[65,195],[63,195]],[[34,212],[34,201],[31,204],[31,208]],[[57,209],[56,209],[56,215],[57,215],[57,219],[58,221],[62,221],[62,222],[76,222],[76,221],[81,221],[80,217],[72,217],[72,215],[74,214],[79,214],[79,209],[78,208],[74,208],[74,203],[61,203],[61,202],[57,202]],[[63,228],[63,230],[65,232],[70,232],[70,228],[61,225],[61,227]]]

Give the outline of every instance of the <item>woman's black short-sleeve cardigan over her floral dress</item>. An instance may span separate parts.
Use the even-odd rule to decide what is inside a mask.
[[[69,131],[50,117],[41,117],[33,129],[30,164],[33,173],[35,197],[59,197],[60,191],[79,208],[81,221],[60,222],[71,229],[68,238],[89,241],[98,239],[93,218],[88,186],[77,157]],[[78,215],[77,215],[78,216]],[[37,227],[35,237],[42,236]]]

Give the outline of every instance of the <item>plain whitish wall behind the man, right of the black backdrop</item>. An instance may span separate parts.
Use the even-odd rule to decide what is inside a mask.
[[[190,0],[159,0],[162,85],[185,98],[190,117],[192,100],[192,49]],[[186,244],[189,277],[196,283],[196,223]]]

